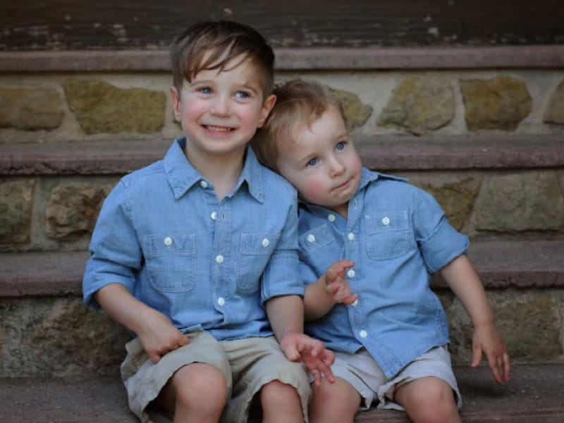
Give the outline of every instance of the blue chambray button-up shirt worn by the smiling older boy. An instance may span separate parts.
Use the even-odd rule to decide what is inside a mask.
[[[90,245],[84,301],[121,283],[180,331],[218,340],[270,336],[264,302],[303,295],[295,189],[247,148],[219,202],[173,142],[164,160],[125,176],[106,198]]]

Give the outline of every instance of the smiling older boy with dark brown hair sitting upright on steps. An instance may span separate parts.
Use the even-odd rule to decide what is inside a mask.
[[[303,422],[296,361],[319,379],[334,357],[302,333],[295,189],[247,148],[276,100],[274,53],[251,27],[211,22],[171,59],[185,137],[107,197],[85,303],[136,335],[121,374],[142,422],[153,407],[176,423],[245,422],[254,398],[264,422]]]

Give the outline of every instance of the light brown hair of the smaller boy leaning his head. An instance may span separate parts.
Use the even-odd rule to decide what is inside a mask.
[[[331,92],[317,82],[290,80],[274,87],[276,103],[262,128],[251,140],[259,161],[278,172],[276,160],[280,146],[293,142],[296,130],[302,125],[310,126],[325,111],[334,106],[343,116],[342,104]],[[346,120],[345,120],[346,123]]]

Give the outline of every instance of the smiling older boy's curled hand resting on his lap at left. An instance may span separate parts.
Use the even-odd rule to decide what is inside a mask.
[[[142,331],[138,331],[137,336],[152,362],[157,363],[169,351],[188,345],[188,338],[161,312],[147,309],[143,319],[145,325]]]

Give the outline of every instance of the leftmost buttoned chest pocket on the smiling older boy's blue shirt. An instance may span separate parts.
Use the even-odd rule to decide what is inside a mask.
[[[164,293],[182,293],[196,284],[196,235],[150,235],[143,239],[149,282]]]

